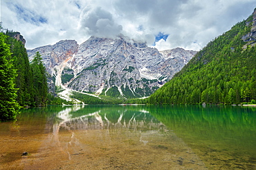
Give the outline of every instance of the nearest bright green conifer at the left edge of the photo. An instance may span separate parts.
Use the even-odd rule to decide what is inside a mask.
[[[0,33],[0,122],[14,120],[19,113],[15,89],[17,74],[10,61],[10,47],[6,44],[6,39],[7,36]]]

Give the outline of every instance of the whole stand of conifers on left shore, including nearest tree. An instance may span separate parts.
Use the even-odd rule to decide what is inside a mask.
[[[37,52],[29,63],[24,44],[12,37],[16,33],[0,33],[0,121],[15,119],[20,106],[46,106],[47,102],[46,70],[41,55]]]

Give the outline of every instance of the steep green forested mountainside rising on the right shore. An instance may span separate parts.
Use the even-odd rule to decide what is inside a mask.
[[[255,45],[256,8],[246,21],[208,43],[145,103],[255,103]]]

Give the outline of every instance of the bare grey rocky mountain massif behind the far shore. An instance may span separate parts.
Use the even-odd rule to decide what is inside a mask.
[[[42,55],[55,85],[98,95],[144,97],[165,84],[196,52],[181,48],[158,52],[125,36],[64,40],[28,50]]]

